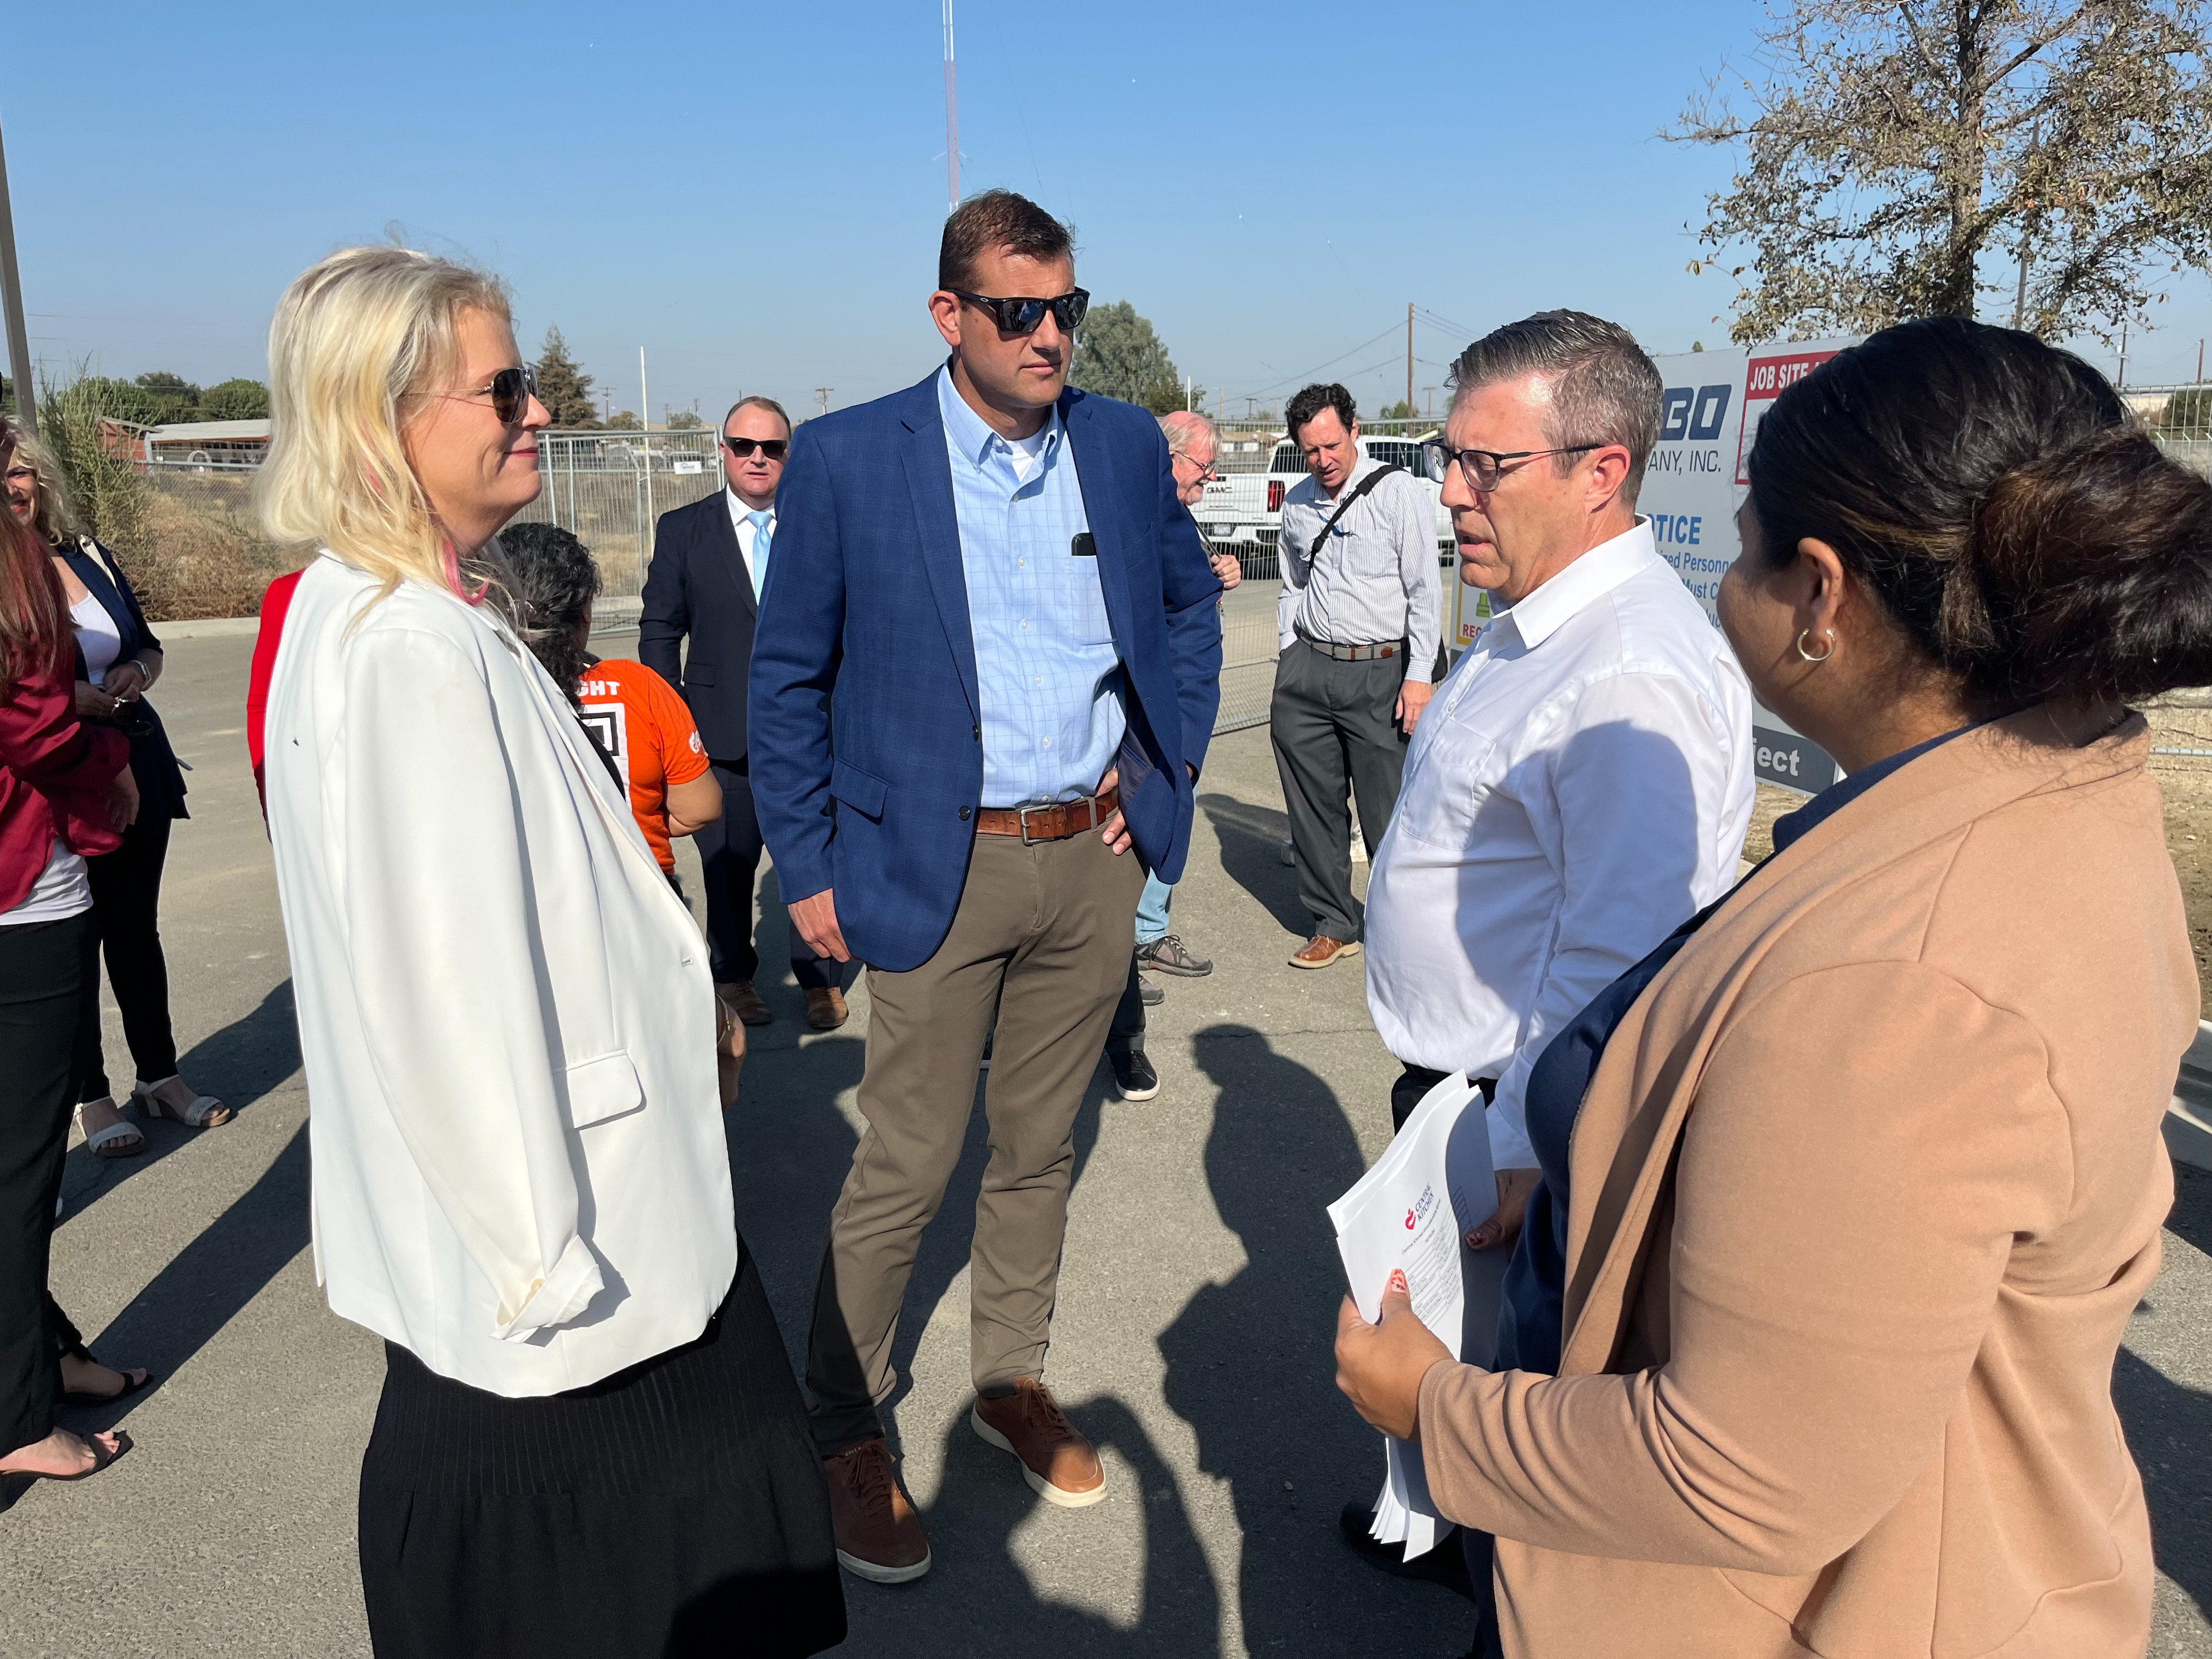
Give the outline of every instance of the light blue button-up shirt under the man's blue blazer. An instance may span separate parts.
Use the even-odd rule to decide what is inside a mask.
[[[1128,714],[1097,555],[1071,551],[1091,529],[1075,447],[1055,409],[1024,482],[949,367],[938,409],[982,695],[982,805],[1079,801],[1113,765]]]

